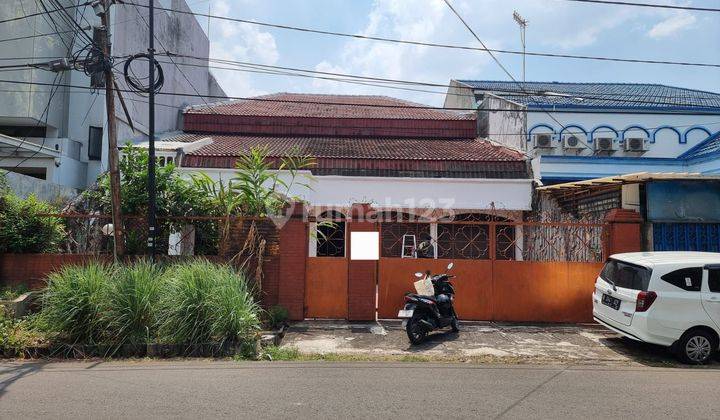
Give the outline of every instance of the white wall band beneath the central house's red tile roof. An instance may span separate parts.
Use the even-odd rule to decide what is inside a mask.
[[[185,174],[197,171],[180,168]],[[213,179],[229,180],[233,170],[203,169]],[[305,172],[302,175],[309,175]],[[349,206],[372,203],[392,208],[435,208],[485,210],[530,210],[530,179],[457,179],[316,176],[312,190],[298,187],[290,191],[313,206]]]

